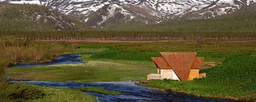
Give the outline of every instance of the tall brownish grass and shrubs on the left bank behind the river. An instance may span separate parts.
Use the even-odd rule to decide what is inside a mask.
[[[0,65],[52,61],[59,54],[71,51],[72,47],[66,43],[56,45],[42,41],[2,37],[0,39]]]

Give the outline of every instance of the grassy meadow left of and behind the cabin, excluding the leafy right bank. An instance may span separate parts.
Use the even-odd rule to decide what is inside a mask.
[[[146,80],[148,73],[156,73],[150,57],[160,57],[160,51],[197,52],[205,57],[204,69],[222,64],[237,53],[256,52],[256,41],[145,41],[112,44],[79,45],[81,64],[47,65],[41,67],[10,68],[7,75],[16,78],[46,81],[122,81]],[[93,52],[93,50],[96,52]],[[107,51],[103,51],[107,50]]]

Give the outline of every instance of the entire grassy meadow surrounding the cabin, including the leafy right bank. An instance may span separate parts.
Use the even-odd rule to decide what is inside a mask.
[[[148,73],[157,72],[150,57],[160,57],[159,52],[197,52],[198,57],[205,57],[202,72],[207,73],[206,78],[185,82],[152,80],[141,85],[196,96],[249,100],[255,99],[255,43],[255,40],[85,43],[73,50],[73,53],[96,53],[78,57],[84,63],[10,68],[6,73],[15,78],[44,81],[146,80]]]

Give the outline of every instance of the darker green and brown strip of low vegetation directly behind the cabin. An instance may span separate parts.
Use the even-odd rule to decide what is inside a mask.
[[[159,52],[197,52],[205,57],[205,62],[221,63],[232,53],[256,52],[255,41],[160,41],[116,43],[108,51],[96,53],[93,59],[123,59],[151,61],[151,57],[160,57]]]

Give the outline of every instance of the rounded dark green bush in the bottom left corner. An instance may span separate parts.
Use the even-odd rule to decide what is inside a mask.
[[[12,99],[36,99],[44,96],[42,88],[32,84],[14,83],[7,91]]]

